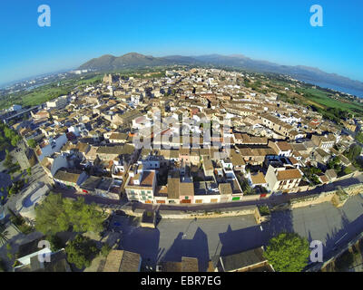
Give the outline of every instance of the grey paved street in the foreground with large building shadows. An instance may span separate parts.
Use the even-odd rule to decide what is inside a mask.
[[[343,208],[334,208],[326,202],[311,208],[275,212],[270,224],[262,225],[262,231],[252,216],[197,221],[162,219],[156,229],[137,227],[134,222],[132,225],[131,219],[124,216],[118,222],[123,230],[122,247],[140,253],[150,265],[195,256],[203,269],[213,256],[266,245],[270,237],[283,230],[297,232],[309,241],[321,240],[324,255],[331,256],[334,247],[344,245],[363,230],[363,198],[349,198]]]

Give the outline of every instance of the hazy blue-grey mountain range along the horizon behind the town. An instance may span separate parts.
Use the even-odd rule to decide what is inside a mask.
[[[300,81],[326,83],[335,87],[363,91],[363,82],[354,81],[337,73],[325,73],[319,68],[303,65],[280,65],[267,61],[250,59],[242,54],[221,55],[208,54],[200,56],[169,55],[153,57],[140,53],[126,53],[122,56],[106,54],[83,63],[79,69],[92,69],[101,72],[112,72],[126,68],[152,67],[161,65],[214,65],[236,67],[257,73],[282,73]]]

